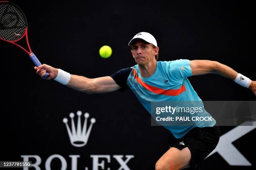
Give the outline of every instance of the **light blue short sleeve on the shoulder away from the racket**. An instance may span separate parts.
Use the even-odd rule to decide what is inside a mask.
[[[192,71],[189,60],[174,60],[170,63],[170,72],[178,78],[185,79],[191,76]]]

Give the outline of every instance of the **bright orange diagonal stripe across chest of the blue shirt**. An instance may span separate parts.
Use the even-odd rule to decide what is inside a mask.
[[[159,95],[177,96],[177,95],[180,95],[182,92],[186,91],[186,88],[184,85],[182,85],[179,89],[175,89],[175,90],[173,90],[173,89],[164,90],[164,89],[161,89],[158,87],[148,85],[145,82],[143,82],[140,77],[138,77],[138,74],[134,68],[133,68],[133,74],[138,83],[140,83],[147,90],[154,92],[156,94],[159,94]]]

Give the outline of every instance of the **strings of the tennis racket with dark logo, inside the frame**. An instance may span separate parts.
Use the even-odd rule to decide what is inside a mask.
[[[0,3],[0,38],[19,40],[27,28],[24,14],[10,3]]]

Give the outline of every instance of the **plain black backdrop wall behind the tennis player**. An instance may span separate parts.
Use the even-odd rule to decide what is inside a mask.
[[[101,77],[135,65],[128,42],[143,31],[156,38],[159,60],[215,60],[256,79],[255,51],[250,43],[254,9],[250,2],[13,2],[26,13],[30,45],[39,60],[72,74]],[[102,45],[112,47],[110,58],[99,56]],[[77,92],[38,77],[28,55],[18,47],[0,42],[0,50],[0,160],[39,155],[40,167],[44,169],[46,159],[58,154],[71,169],[69,155],[80,155],[78,169],[91,170],[90,155],[110,155],[110,163],[102,159],[105,169],[118,169],[113,155],[134,155],[127,163],[129,168],[153,170],[168,149],[169,132],[151,126],[150,115],[130,90],[106,94]],[[189,81],[202,100],[255,100],[250,90],[219,75],[194,76]],[[77,110],[89,112],[90,118],[96,119],[87,145],[81,148],[71,145],[62,122]],[[221,135],[233,128],[220,127]],[[254,169],[255,132],[254,129],[233,143],[251,166],[230,166],[215,153],[204,161],[202,169]],[[51,167],[60,169],[59,160],[54,159]]]

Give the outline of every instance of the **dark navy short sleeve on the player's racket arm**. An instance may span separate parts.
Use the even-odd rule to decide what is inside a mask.
[[[128,85],[127,85],[127,78],[130,75],[132,71],[132,68],[123,68],[117,72],[114,72],[112,75],[110,75],[110,77],[113,78],[113,80],[116,82],[116,84],[118,84],[120,88],[118,91],[123,92],[124,90],[128,89]]]

